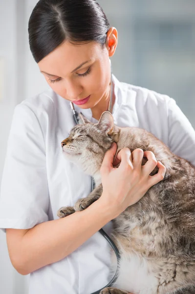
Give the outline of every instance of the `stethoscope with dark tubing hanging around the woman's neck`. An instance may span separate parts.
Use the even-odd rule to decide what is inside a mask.
[[[111,91],[110,91],[108,111],[111,112],[113,82],[112,82],[112,67],[111,67],[111,61],[110,61],[110,59],[109,59],[109,62],[110,62],[110,72],[111,72],[111,81],[110,81]],[[79,123],[79,121],[78,121],[78,112],[74,109],[74,105],[73,105],[72,102],[70,102],[70,107],[71,107],[72,112],[73,112],[73,117],[74,117],[75,123],[78,124]],[[93,189],[94,189],[94,181],[93,181],[93,177],[91,177],[91,192],[93,191]],[[100,291],[103,290],[104,288],[107,288],[107,287],[112,286],[113,283],[117,279],[117,273],[118,273],[118,270],[119,270],[119,261],[120,261],[120,253],[119,253],[119,250],[117,249],[116,245],[113,243],[113,241],[109,238],[109,236],[107,235],[107,233],[103,229],[100,229],[99,232],[106,238],[106,240],[108,241],[109,245],[113,248],[113,250],[114,250],[114,252],[116,254],[116,257],[117,257],[117,269],[116,269],[116,273],[115,273],[114,277],[112,278],[112,280],[109,282],[108,285],[106,285],[102,289],[100,289],[100,290],[98,290],[96,292],[93,292],[91,294],[99,294]]]

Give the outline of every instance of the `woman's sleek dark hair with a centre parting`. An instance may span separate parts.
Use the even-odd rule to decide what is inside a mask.
[[[108,19],[96,0],[39,0],[29,23],[29,45],[38,63],[62,44],[107,42]]]

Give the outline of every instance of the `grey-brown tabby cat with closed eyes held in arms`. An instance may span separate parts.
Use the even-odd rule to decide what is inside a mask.
[[[116,154],[124,147],[131,152],[136,148],[152,151],[166,173],[112,220],[111,239],[121,255],[120,268],[114,285],[100,294],[195,294],[195,166],[147,130],[116,126],[109,111],[103,112],[98,123],[80,114],[79,124],[62,142],[67,151],[63,153],[93,176],[95,189],[74,207],[61,207],[57,215],[63,218],[81,211],[102,195],[100,168],[113,142]],[[156,167],[150,175],[157,172]]]

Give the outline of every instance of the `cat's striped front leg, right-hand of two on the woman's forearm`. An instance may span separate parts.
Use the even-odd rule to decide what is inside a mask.
[[[102,184],[100,184],[87,197],[81,198],[75,203],[74,205],[75,211],[81,211],[86,209],[93,202],[95,202],[96,200],[100,198],[100,196],[102,195],[102,192],[103,192],[103,188],[102,188]]]

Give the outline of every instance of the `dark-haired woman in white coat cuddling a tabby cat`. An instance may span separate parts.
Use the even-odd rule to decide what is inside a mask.
[[[95,0],[40,0],[28,31],[31,52],[50,89],[15,107],[1,183],[0,227],[6,229],[12,265],[23,275],[30,273],[29,294],[92,293],[109,282],[110,247],[98,230],[104,227],[109,233],[111,220],[162,180],[166,169],[152,152],[130,154],[124,148],[118,161],[126,169],[119,171],[121,176],[127,170],[130,177],[137,173],[137,181],[134,187],[129,181],[121,186],[112,166],[114,144],[102,164],[100,199],[59,219],[57,210],[74,205],[91,187],[90,176],[62,156],[61,142],[75,124],[69,102],[93,123],[110,106],[115,124],[147,129],[193,164],[195,131],[172,98],[111,76],[117,30],[109,27]],[[143,156],[149,160],[145,172]],[[156,165],[158,174],[151,177]]]

